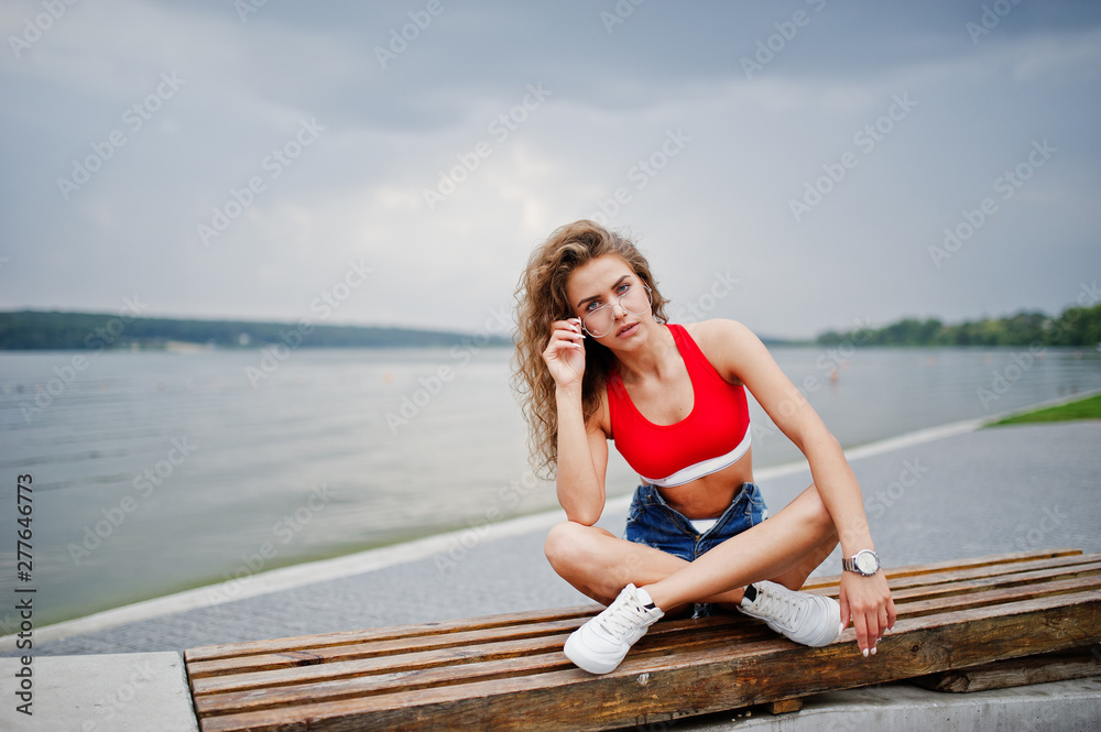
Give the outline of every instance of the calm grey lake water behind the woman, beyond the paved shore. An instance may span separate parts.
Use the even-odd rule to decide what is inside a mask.
[[[1101,387],[1093,351],[772,352],[846,447]],[[0,353],[0,592],[22,473],[35,625],[556,505],[527,469],[511,350],[284,356]],[[751,413],[756,467],[802,458]],[[635,482],[613,451],[609,493]]]

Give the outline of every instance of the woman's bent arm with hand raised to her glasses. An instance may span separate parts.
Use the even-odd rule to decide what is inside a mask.
[[[585,375],[585,347],[580,323],[557,320],[543,360],[555,380],[555,405],[558,411],[558,465],[555,488],[558,503],[569,521],[591,526],[604,510],[604,471],[608,467],[608,438],[600,414],[585,420],[581,381]]]

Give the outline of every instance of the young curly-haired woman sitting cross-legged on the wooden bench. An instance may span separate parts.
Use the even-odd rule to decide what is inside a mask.
[[[581,668],[614,669],[664,614],[718,605],[806,645],[851,621],[866,657],[895,610],[841,447],[748,328],[666,324],[645,258],[592,221],[538,247],[516,293],[514,383],[534,461],[553,471],[568,521],[546,555],[606,605],[567,641]],[[814,482],[768,517],[753,483],[744,390],[810,463]],[[625,538],[596,527],[608,440],[640,473]],[[840,603],[798,592],[841,543]]]

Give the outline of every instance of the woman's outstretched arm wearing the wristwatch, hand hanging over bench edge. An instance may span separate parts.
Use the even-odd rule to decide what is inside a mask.
[[[733,320],[699,324],[701,348],[713,354],[716,368],[728,381],[741,381],[776,426],[803,451],[810,474],[837,527],[843,556],[875,549],[864,514],[857,477],[837,438],[822,424],[806,397],[776,365],[761,339]],[[883,572],[863,577],[841,572],[841,621],[851,618],[861,648],[894,625],[895,610]]]

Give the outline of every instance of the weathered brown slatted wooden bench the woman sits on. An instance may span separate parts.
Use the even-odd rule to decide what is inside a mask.
[[[808,695],[915,677],[935,687],[938,673],[1101,642],[1101,555],[1017,553],[886,575],[898,621],[866,659],[851,627],[809,648],[733,614],[663,621],[615,671],[592,676],[562,653],[599,610],[585,605],[207,646],[185,660],[203,732],[608,730],[768,702],[797,709]],[[836,597],[838,578],[805,589]]]

